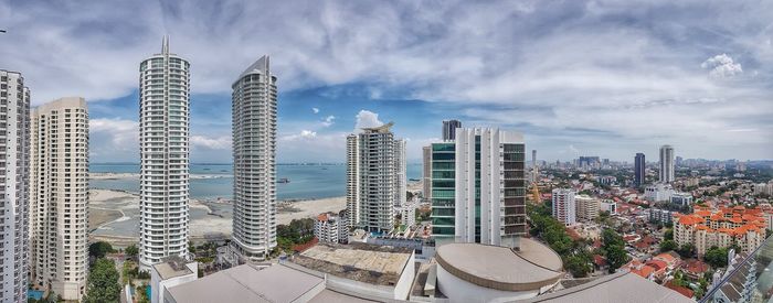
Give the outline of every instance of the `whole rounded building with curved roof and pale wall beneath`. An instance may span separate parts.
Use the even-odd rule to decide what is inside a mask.
[[[437,248],[437,283],[452,301],[508,301],[533,297],[563,275],[561,258],[528,238],[520,249],[480,244],[447,244]]]

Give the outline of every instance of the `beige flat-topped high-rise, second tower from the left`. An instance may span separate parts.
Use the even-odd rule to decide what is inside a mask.
[[[88,111],[70,97],[31,115],[31,278],[80,301],[88,272]]]

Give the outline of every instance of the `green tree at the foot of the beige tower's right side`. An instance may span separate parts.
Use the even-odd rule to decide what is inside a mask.
[[[119,302],[120,284],[115,262],[108,259],[97,259],[88,273],[84,303]]]

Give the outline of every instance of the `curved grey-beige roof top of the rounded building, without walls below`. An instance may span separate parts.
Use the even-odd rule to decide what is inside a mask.
[[[547,246],[521,238],[519,251],[479,244],[448,244],[435,259],[444,270],[484,288],[504,291],[536,290],[563,275],[561,258]]]

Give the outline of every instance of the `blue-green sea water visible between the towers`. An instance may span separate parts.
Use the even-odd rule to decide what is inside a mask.
[[[92,163],[93,173],[139,173],[137,163]],[[409,180],[417,180],[422,174],[421,163],[405,166]],[[191,163],[192,177],[190,194],[197,199],[231,198],[233,196],[233,164]],[[279,201],[340,197],[346,195],[345,164],[277,164],[276,178],[287,178],[288,183],[276,184]],[[120,190],[139,193],[139,178],[91,180],[89,186],[99,190]]]

